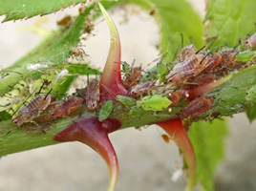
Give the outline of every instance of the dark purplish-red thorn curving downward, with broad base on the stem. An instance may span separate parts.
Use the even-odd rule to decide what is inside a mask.
[[[71,124],[53,139],[60,142],[77,140],[94,149],[108,164],[111,177],[108,190],[113,191],[117,183],[118,161],[108,133],[116,131],[120,126],[117,119],[109,118],[99,122],[97,117],[89,117]]]

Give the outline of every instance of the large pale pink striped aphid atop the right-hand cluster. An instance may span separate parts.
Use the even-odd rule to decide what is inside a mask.
[[[165,76],[168,81],[179,82],[191,76],[196,76],[203,71],[207,63],[207,58],[203,54],[191,55],[184,61],[176,64],[173,70]]]

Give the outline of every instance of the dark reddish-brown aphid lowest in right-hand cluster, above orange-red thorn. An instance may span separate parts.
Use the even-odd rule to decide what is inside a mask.
[[[194,117],[209,111],[213,107],[214,98],[202,96],[192,100],[180,114],[181,118]]]

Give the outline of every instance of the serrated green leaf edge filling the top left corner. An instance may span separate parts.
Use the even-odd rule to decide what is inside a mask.
[[[31,18],[35,15],[44,15],[59,11],[86,0],[0,0],[0,15],[6,14],[5,21],[17,20],[21,18]]]

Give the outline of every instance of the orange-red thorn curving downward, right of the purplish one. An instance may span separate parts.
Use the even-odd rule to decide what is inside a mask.
[[[193,146],[187,137],[187,125],[183,125],[180,118],[156,123],[177,143],[183,153],[188,166],[188,182],[186,191],[192,190],[196,181],[197,162]]]

